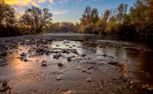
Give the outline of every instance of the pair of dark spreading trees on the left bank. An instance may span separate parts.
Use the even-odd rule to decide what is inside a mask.
[[[35,34],[45,32],[52,20],[47,8],[31,7],[16,18],[15,9],[8,4],[0,4],[0,36]]]

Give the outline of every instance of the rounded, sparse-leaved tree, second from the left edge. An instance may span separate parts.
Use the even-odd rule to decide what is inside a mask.
[[[29,27],[31,32],[40,33],[44,29],[48,28],[52,20],[52,13],[49,13],[48,9],[39,9],[38,7],[32,7],[25,11],[25,14],[21,17],[21,23],[24,23]]]

